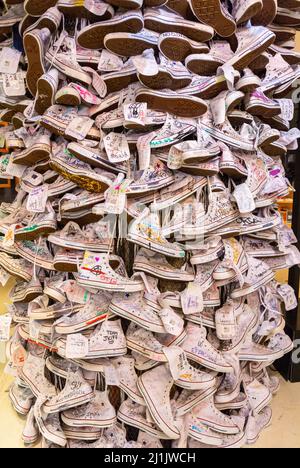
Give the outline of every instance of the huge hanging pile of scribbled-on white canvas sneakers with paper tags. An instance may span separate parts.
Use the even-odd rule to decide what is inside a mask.
[[[9,390],[45,448],[234,448],[293,349],[300,2],[6,0]]]

